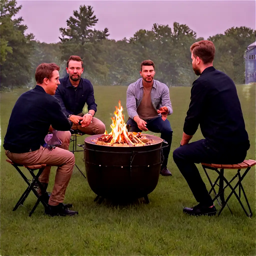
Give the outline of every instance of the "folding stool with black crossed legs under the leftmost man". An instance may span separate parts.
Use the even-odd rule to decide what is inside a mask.
[[[17,204],[15,205],[15,207],[13,208],[13,211],[17,210],[17,208],[21,205],[24,206],[24,201],[26,200],[27,196],[29,195],[29,193],[31,191],[33,191],[33,193],[35,194],[35,196],[37,197],[37,202],[35,204],[35,206],[33,207],[33,209],[29,212],[29,217],[31,217],[31,215],[33,214],[33,212],[35,211],[36,207],[38,206],[39,202],[42,203],[42,205],[44,206],[44,208],[47,207],[47,203],[42,199],[42,197],[38,194],[38,192],[36,191],[36,189],[34,188],[35,183],[37,183],[37,185],[40,187],[41,191],[44,191],[44,188],[42,186],[42,184],[39,182],[38,177],[41,175],[41,173],[43,172],[44,168],[46,167],[46,164],[36,164],[36,165],[20,165],[17,163],[12,162],[9,159],[6,159],[6,162],[10,163],[12,166],[15,167],[15,169],[19,172],[19,174],[22,176],[22,178],[25,180],[25,182],[28,184],[27,189],[24,191],[23,195],[20,197],[19,201],[17,202]],[[31,176],[33,177],[32,182],[29,182],[29,179],[23,174],[23,172],[20,170],[19,167],[25,167],[28,169],[29,173],[31,174]],[[38,170],[37,175],[34,174],[34,171]],[[25,206],[24,206],[25,207]],[[26,208],[26,207],[25,207]],[[27,208],[26,208],[27,209]],[[28,210],[28,209],[27,209]]]

